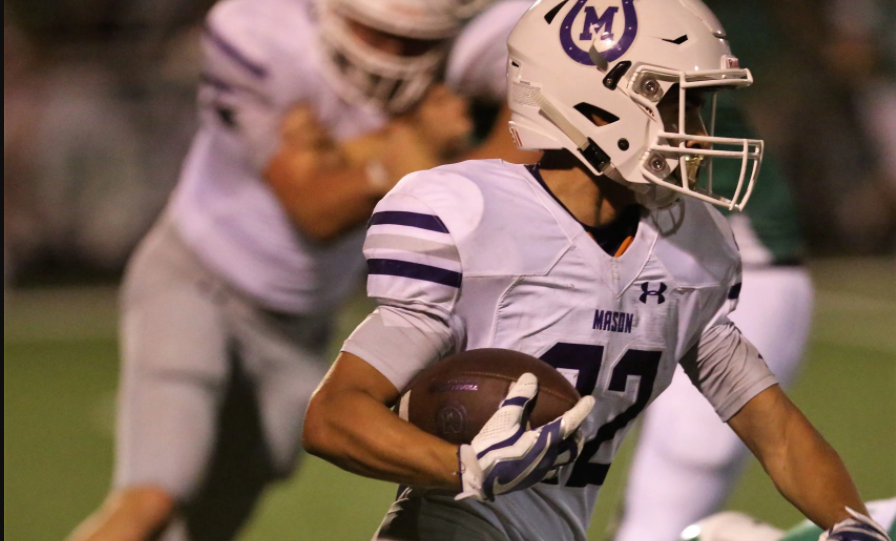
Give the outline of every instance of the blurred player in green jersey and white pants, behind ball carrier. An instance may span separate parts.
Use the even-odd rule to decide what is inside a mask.
[[[716,128],[748,136],[730,93],[719,96]],[[714,164],[721,190],[733,189],[725,185],[736,178],[732,165]],[[803,246],[790,187],[774,160],[763,160],[750,205],[728,219],[744,266],[731,321],[786,389],[808,339],[812,284],[801,266]],[[748,455],[684,372],[676,370],[672,384],[645,413],[616,541],[673,541],[685,526],[721,509]]]

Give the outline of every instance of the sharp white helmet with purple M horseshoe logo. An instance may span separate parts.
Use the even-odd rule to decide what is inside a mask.
[[[763,142],[713,133],[715,92],[709,135],[685,133],[688,92],[753,82],[699,0],[539,0],[507,45],[510,131],[518,146],[568,149],[650,206],[671,204],[679,194],[732,210],[746,205]],[[679,90],[674,130],[657,108],[670,89]],[[727,197],[712,191],[714,158],[741,161]],[[708,179],[698,183],[704,159]]]

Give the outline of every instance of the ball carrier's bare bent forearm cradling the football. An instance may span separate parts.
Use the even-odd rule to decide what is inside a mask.
[[[305,449],[352,473],[459,490],[457,447],[402,421],[360,391],[318,392],[305,417]]]

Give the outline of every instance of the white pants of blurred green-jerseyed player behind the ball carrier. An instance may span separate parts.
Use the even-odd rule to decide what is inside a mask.
[[[809,334],[812,283],[801,267],[744,269],[731,320],[786,388]],[[615,541],[674,541],[725,503],[748,455],[678,367],[647,409]]]

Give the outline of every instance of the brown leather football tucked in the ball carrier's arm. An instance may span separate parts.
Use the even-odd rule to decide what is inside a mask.
[[[507,349],[474,349],[433,363],[411,380],[399,416],[450,443],[470,443],[498,410],[510,385],[526,372],[538,378],[529,417],[532,428],[550,423],[579,400],[575,387],[548,363]]]

